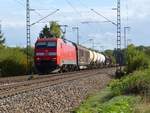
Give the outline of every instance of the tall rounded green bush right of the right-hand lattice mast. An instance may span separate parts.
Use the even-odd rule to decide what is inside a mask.
[[[145,69],[149,66],[148,57],[143,51],[136,49],[134,45],[128,46],[126,50],[126,72],[132,73],[138,69]]]

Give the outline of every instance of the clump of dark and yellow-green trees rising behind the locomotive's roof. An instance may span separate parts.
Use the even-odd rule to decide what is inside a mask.
[[[43,28],[43,30],[40,33],[40,38],[60,38],[61,37],[61,28],[60,25],[57,22],[51,22],[50,27],[47,25]]]

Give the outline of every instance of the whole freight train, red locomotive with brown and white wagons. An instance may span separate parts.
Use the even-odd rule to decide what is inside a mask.
[[[110,61],[99,52],[62,38],[39,38],[35,43],[34,62],[39,73],[100,68]]]

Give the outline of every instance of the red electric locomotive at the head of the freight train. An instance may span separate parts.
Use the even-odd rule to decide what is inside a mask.
[[[35,44],[35,66],[41,73],[76,68],[76,47],[61,38],[42,38]]]

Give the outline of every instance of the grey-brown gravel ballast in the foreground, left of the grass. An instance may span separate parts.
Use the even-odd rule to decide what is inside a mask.
[[[0,113],[70,113],[110,80],[110,76],[99,74],[3,98]]]

